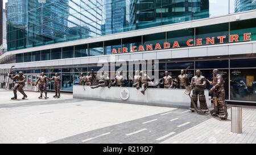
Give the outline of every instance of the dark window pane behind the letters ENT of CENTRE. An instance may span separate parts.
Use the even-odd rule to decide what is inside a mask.
[[[223,43],[227,43],[229,41],[229,24],[224,23],[224,24],[216,24],[212,26],[204,26],[204,27],[197,27],[196,28],[196,45],[200,44],[207,44],[207,37],[208,39],[208,44],[218,44],[221,43],[220,37],[218,36],[225,36],[223,38]],[[214,37],[214,38],[213,38]],[[212,42],[210,42],[212,41]]]

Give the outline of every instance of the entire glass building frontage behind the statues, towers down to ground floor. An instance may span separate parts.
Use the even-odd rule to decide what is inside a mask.
[[[218,47],[228,49],[229,46],[239,47],[241,44],[252,44],[250,49],[245,45],[241,50],[253,51],[256,18],[244,16],[248,12],[256,12],[255,3],[253,0],[9,0],[7,45],[11,57],[0,60],[0,82],[7,79],[9,69],[5,68],[6,64],[14,61],[18,63],[14,64],[15,72],[22,70],[26,76],[24,90],[35,90],[39,73],[45,72],[48,77],[59,73],[61,91],[72,91],[73,85],[79,83],[81,72],[86,75],[91,69],[97,72],[101,68],[96,60],[106,58],[112,66],[113,61],[107,55],[112,55],[114,49],[115,54],[123,53],[125,49],[131,53],[113,57],[118,57],[118,60],[124,58],[126,63],[133,60],[132,57],[148,62],[153,53],[159,60],[160,79],[166,70],[176,79],[180,70],[189,66],[189,80],[195,76],[197,69],[212,80],[212,70],[217,68],[225,81],[227,100],[256,103],[256,54],[240,51],[241,55],[239,52],[229,55],[230,51],[221,53],[224,48],[218,51]],[[243,14],[243,19],[240,20],[235,14]],[[217,16],[232,18],[222,20],[224,18]],[[214,19],[221,21],[214,23]],[[172,30],[173,27],[175,30]],[[245,33],[249,34],[250,40],[246,40]],[[237,40],[232,41],[231,35],[237,36]],[[219,36],[225,36],[222,42]],[[66,41],[71,42],[67,45],[63,43]],[[179,46],[175,46],[175,41]],[[170,46],[164,48],[166,43]],[[156,48],[158,45],[162,48]],[[216,47],[214,52],[218,55],[189,56],[191,49],[196,49],[195,53],[199,51],[200,55],[205,51],[208,53],[208,47]],[[18,49],[25,52],[15,51]],[[132,53],[133,50],[136,52]],[[164,53],[164,56],[158,58],[159,53]],[[170,53],[171,58],[165,57]],[[182,56],[173,57],[177,53]],[[144,58],[144,54],[148,57]],[[117,66],[114,68],[114,72],[120,70]],[[124,86],[131,86],[128,77]],[[207,85],[207,89],[210,87]],[[54,90],[53,81],[49,82],[47,89]]]

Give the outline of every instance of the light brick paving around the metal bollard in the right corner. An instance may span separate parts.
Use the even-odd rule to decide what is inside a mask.
[[[230,119],[230,108],[228,109]],[[256,108],[243,106],[242,133],[232,133],[230,121],[220,121],[215,118],[206,120],[187,129],[162,143],[211,143],[211,144],[256,144]]]

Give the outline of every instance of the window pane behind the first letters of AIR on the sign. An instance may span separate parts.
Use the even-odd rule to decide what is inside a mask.
[[[104,54],[111,55],[113,50],[115,50],[117,53],[118,53],[118,51],[120,51],[120,53],[122,53],[121,39],[104,41]]]

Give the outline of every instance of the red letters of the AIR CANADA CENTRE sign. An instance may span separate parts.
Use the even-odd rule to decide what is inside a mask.
[[[230,35],[230,43],[239,41],[238,40],[238,35]],[[226,36],[217,36],[218,43],[224,43],[224,39]],[[195,41],[193,39],[187,40],[187,46],[191,47],[194,45],[210,45],[210,44],[216,44],[214,43],[215,37],[207,37],[206,38],[206,44],[203,44],[203,38],[198,38]],[[251,33],[243,33],[243,41],[250,41],[251,40]],[[195,43],[194,43],[195,42]],[[142,52],[142,51],[151,51],[151,50],[156,50],[156,49],[167,49],[167,48],[179,48],[179,41],[174,41],[173,43],[163,43],[161,45],[159,43],[156,43],[154,48],[152,44],[146,44],[146,45],[139,45],[131,47],[131,50],[128,51],[128,48],[123,47],[123,48],[113,48],[112,49],[112,54],[118,54],[118,53],[127,53],[127,52]]]

